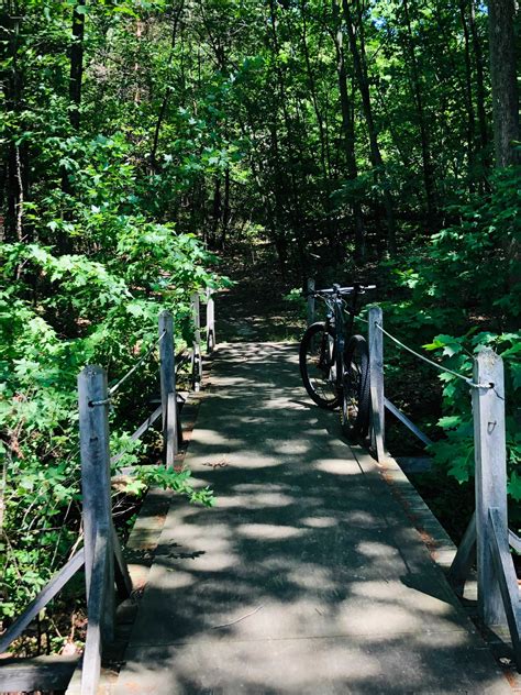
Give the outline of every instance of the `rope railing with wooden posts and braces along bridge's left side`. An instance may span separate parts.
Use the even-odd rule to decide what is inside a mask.
[[[214,348],[214,304],[213,291],[206,295],[207,299],[207,343],[208,352]],[[199,295],[198,295],[199,297]],[[192,297],[193,302],[193,297]],[[211,302],[211,305],[210,305]],[[193,308],[193,304],[192,304]],[[192,383],[199,385],[202,371],[200,353],[200,320],[199,311],[195,316],[196,341],[192,346],[192,369],[199,368]],[[109,432],[109,405],[115,393],[153,354],[159,350],[159,380],[160,406],[135,430],[131,440],[135,441],[163,416],[163,439],[165,465],[174,466],[179,444],[182,442],[182,430],[178,411],[178,394],[176,389],[176,354],[174,320],[168,311],[163,311],[158,321],[158,337],[141,355],[125,374],[110,388],[108,387],[107,371],[99,366],[87,366],[78,376],[79,434],[81,460],[81,492],[82,492],[82,528],[84,547],[78,550],[67,563],[53,576],[51,582],[30,603],[27,608],[16,618],[10,628],[0,637],[0,652],[24,631],[30,622],[45,608],[57,593],[85,566],[88,628],[86,648],[82,657],[81,671],[76,671],[70,681],[67,693],[95,695],[98,691],[101,668],[101,653],[104,643],[113,640],[115,620],[115,596],[126,598],[132,592],[132,581],[123,556],[122,548],[112,520],[111,507],[111,464],[121,459],[124,452],[111,456]],[[179,363],[186,363],[189,357],[181,357]],[[60,659],[60,658],[57,658]],[[58,662],[57,662],[58,663]],[[56,666],[57,670],[58,666]],[[40,673],[42,672],[42,675]],[[43,690],[65,690],[70,680],[70,668],[64,669],[64,682],[53,688],[45,686],[46,671],[38,664],[31,670],[27,664],[20,669],[11,669],[9,676],[1,680],[2,690],[34,690],[34,682],[38,677]],[[9,687],[10,679],[16,683],[15,688]],[[23,687],[23,680],[31,686]]]

